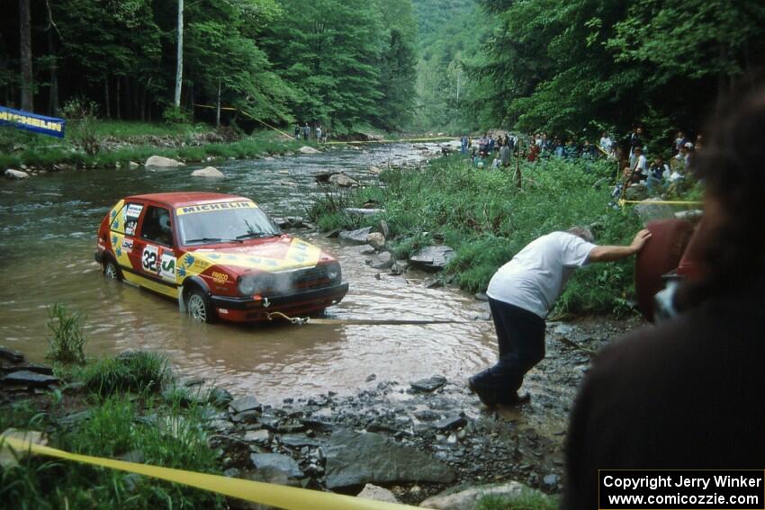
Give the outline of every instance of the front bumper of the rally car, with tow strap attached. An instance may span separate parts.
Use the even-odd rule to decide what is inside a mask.
[[[263,296],[261,299],[210,296],[218,316],[234,322],[267,320],[268,314],[282,312],[288,316],[310,314],[336,305],[348,292],[347,283],[338,283],[320,289],[295,292],[281,296]]]

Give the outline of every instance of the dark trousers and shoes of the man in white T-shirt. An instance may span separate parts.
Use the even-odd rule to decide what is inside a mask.
[[[477,389],[495,392],[498,401],[514,396],[523,376],[545,358],[545,319],[526,309],[489,298],[497,330],[500,361],[475,376]]]

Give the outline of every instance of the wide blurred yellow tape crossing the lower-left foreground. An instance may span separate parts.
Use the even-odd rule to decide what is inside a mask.
[[[219,475],[209,475],[193,471],[174,470],[160,468],[136,462],[114,461],[89,455],[64,452],[49,446],[32,443],[31,440],[22,440],[14,437],[2,436],[4,441],[16,452],[31,452],[49,457],[57,457],[67,461],[82,462],[94,466],[102,466],[112,470],[128,471],[155,479],[184,484],[193,488],[209,490],[223,496],[238,497],[253,503],[262,505],[278,506],[280,508],[302,510],[311,508],[314,510],[401,510],[405,508],[415,509],[417,506],[401,505],[365,499],[363,497],[343,496],[330,492],[320,492],[305,488],[284,487],[264,482],[245,479],[232,479]]]

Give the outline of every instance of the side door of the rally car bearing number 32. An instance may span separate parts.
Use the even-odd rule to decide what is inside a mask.
[[[173,226],[169,208],[148,203],[133,241],[133,256],[143,276],[141,286],[177,297]]]

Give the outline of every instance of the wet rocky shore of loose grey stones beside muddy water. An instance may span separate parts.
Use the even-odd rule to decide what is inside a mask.
[[[482,407],[463,380],[439,374],[379,380],[343,397],[294,395],[278,405],[261,403],[257,392],[232,396],[201,379],[173,384],[205,406],[210,445],[230,477],[347,494],[374,484],[411,504],[448,488],[509,481],[555,494],[563,487],[567,416],[590,357],[638,325],[603,318],[548,323],[545,361],[525,384],[532,400],[517,408]],[[3,406],[31,399],[44,407],[46,394],[59,388],[75,402],[59,419],[87,419],[85,398],[77,398],[82,389],[22,354],[5,350],[0,359]],[[367,381],[376,381],[373,371]]]

